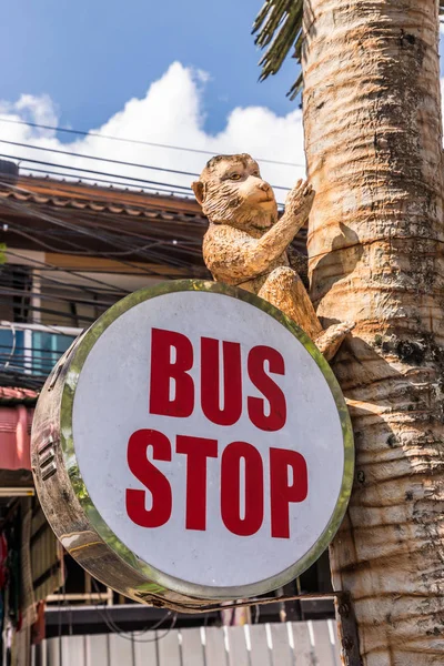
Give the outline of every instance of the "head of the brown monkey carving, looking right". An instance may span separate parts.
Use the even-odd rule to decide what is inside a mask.
[[[249,154],[216,155],[192,184],[210,222],[243,230],[265,230],[278,220],[271,185]]]

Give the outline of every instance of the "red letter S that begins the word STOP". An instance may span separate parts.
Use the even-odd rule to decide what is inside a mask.
[[[165,435],[154,430],[139,430],[131,435],[128,465],[135,478],[150,491],[152,506],[149,511],[145,507],[145,491],[127,488],[127,513],[141,527],[160,527],[170,519],[172,494],[168,478],[147,457],[149,446],[152,446],[154,461],[171,462],[171,444]]]

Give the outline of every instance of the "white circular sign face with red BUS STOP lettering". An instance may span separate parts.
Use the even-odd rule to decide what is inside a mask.
[[[320,366],[273,316],[223,293],[167,293],[113,321],[81,370],[72,432],[102,519],[190,584],[276,576],[341,495],[344,435]]]

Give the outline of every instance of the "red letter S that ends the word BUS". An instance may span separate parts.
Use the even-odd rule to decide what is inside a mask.
[[[264,363],[269,363],[269,372],[284,375],[285,365],[282,355],[269,346],[255,346],[250,351],[248,369],[250,380],[266,397],[270,414],[265,415],[265,401],[262,397],[249,397],[248,410],[252,423],[263,431],[275,432],[285,425],[285,395],[275,382],[265,373]]]

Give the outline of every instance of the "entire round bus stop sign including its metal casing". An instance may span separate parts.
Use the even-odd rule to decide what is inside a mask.
[[[347,410],[314,344],[265,301],[212,282],[142,290],[61,365],[37,408],[36,481],[63,545],[108,585],[244,598],[332,539],[353,477]],[[61,528],[57,486],[83,529]]]

